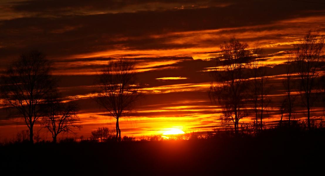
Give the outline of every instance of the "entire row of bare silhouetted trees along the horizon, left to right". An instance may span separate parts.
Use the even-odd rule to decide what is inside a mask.
[[[286,74],[282,82],[285,94],[279,104],[272,104],[280,114],[277,126],[304,126],[302,122],[293,120],[299,97],[307,114],[306,128],[309,131],[313,128],[310,109],[317,101],[322,105],[325,102],[323,48],[324,37],[319,31],[308,31],[304,39],[294,44],[293,53],[285,62]],[[3,106],[16,109],[23,117],[29,130],[20,135],[25,139],[28,134],[30,143],[39,141],[34,135],[35,123],[40,123],[50,132],[54,143],[59,134],[74,133],[82,128],[77,125],[79,107],[62,97],[58,80],[52,77],[51,65],[43,53],[31,51],[22,54],[1,76]],[[108,128],[99,128],[92,132],[89,140],[134,140],[126,136],[122,138],[119,127],[119,119],[126,116],[142,97],[134,66],[134,61],[117,59],[101,69],[96,80],[99,90],[94,100],[116,119],[116,129],[112,132]],[[232,38],[221,45],[216,68],[210,72],[214,82],[209,87],[209,97],[222,107],[221,121],[231,124],[236,136],[243,131],[254,135],[262,133],[266,129],[263,119],[271,107],[269,94],[272,89],[263,49],[259,44],[250,48],[247,43]],[[295,94],[297,91],[298,95]],[[240,119],[245,117],[253,117],[253,124],[240,123]],[[285,117],[288,120],[284,120]],[[314,127],[322,128],[322,122]],[[17,141],[21,141],[20,138],[17,137]]]

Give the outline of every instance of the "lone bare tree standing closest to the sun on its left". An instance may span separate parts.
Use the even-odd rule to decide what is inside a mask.
[[[101,70],[98,84],[101,92],[96,101],[116,119],[116,140],[121,141],[119,119],[134,107],[140,97],[136,85],[135,62],[126,59],[110,61]]]

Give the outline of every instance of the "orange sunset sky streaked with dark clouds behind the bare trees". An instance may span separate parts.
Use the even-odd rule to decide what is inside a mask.
[[[91,97],[99,69],[112,59],[132,59],[145,94],[120,120],[122,136],[205,132],[221,125],[220,106],[207,93],[209,72],[220,45],[235,37],[264,49],[274,102],[265,120],[272,124],[279,120],[283,62],[308,30],[325,34],[322,0],[1,0],[0,73],[21,53],[45,53],[65,100],[80,106],[77,135],[89,137],[98,127],[115,128]],[[305,117],[303,109],[295,116]],[[312,116],[324,116],[322,107]],[[23,120],[1,108],[0,140],[21,130],[27,130]]]

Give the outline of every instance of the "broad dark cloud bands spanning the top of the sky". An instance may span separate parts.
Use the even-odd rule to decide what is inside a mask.
[[[115,9],[128,4],[124,1],[82,1],[79,4],[64,2],[25,1],[16,3],[13,8],[18,11],[61,8],[73,10],[74,8],[86,7],[96,9],[99,7],[106,8],[101,3],[108,3],[107,6]],[[179,2],[182,3],[183,1]],[[194,1],[192,2],[194,3]],[[189,48],[195,47],[195,39],[193,42],[172,44],[168,41],[173,40],[173,38],[177,39],[179,36],[159,38],[149,36],[168,32],[270,24],[278,20],[315,15],[316,10],[324,9],[324,6],[291,1],[245,1],[245,3],[238,1],[222,7],[208,6],[206,8],[138,11],[134,13],[64,15],[55,18],[37,16],[2,20],[0,21],[2,46],[0,54],[3,58],[7,58],[8,56],[15,56],[23,50],[36,48],[44,51],[50,57],[67,57],[72,54],[118,50],[120,48],[129,50]],[[323,15],[323,12],[317,14]],[[222,31],[222,33],[228,32],[230,31]],[[277,36],[272,37],[276,38]],[[218,45],[223,41],[224,39],[219,38],[209,39],[206,42]]]

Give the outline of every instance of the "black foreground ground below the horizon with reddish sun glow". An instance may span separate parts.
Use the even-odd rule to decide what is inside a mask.
[[[324,131],[188,141],[0,147],[1,175],[283,175],[324,169]]]

